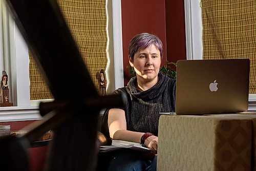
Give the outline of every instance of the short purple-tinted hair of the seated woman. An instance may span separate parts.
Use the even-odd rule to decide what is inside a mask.
[[[146,49],[150,45],[155,45],[160,51],[161,60],[163,58],[163,44],[162,41],[154,34],[140,33],[137,34],[130,42],[129,55],[133,61],[135,53]]]

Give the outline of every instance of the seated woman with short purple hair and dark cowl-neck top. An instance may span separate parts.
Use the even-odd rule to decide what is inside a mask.
[[[113,139],[143,143],[153,158],[136,151],[119,151],[109,170],[156,170],[159,112],[175,112],[176,80],[160,72],[163,48],[153,34],[141,33],[130,42],[129,63],[136,72],[124,88],[124,109],[110,109],[108,126]],[[150,155],[152,156],[152,155]]]

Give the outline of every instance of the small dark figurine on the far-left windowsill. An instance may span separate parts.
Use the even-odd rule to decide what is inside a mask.
[[[8,88],[8,75],[5,71],[2,72],[1,80],[1,103],[0,106],[12,106],[10,103],[9,88]]]

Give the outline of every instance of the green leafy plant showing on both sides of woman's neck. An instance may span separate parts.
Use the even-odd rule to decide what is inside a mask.
[[[172,68],[172,65],[175,66],[175,68],[177,67],[177,63],[166,61],[166,63],[163,65],[163,67],[160,68],[160,71],[163,74],[167,75],[168,77],[176,79],[177,73],[176,73],[176,70]],[[126,68],[129,69],[131,78],[136,76],[136,73],[135,73],[133,67],[126,66]]]

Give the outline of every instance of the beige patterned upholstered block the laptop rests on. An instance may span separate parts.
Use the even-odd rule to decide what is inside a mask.
[[[161,115],[157,170],[254,170],[256,115]]]

